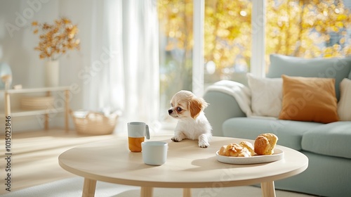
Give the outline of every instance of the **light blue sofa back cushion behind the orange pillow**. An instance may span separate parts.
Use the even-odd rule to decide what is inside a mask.
[[[339,84],[351,77],[351,58],[297,58],[278,54],[270,55],[270,69],[266,75],[277,78],[281,75],[296,77],[335,78],[336,98],[340,98]],[[349,76],[350,74],[350,76]]]

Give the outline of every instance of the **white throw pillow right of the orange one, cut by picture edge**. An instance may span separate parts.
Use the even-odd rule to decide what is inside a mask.
[[[351,80],[347,78],[340,82],[338,115],[342,121],[351,121]]]

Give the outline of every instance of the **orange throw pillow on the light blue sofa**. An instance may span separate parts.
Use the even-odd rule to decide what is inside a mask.
[[[279,119],[322,123],[339,120],[334,79],[286,75],[282,78],[283,101]]]

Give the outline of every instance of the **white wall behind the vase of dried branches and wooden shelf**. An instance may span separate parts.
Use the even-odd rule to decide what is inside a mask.
[[[93,1],[0,0],[0,62],[11,66],[13,84],[22,84],[23,88],[44,87],[44,60],[39,59],[39,51],[34,51],[39,39],[37,34],[32,33],[31,23],[33,20],[53,23],[53,20],[65,16],[79,27],[81,50],[69,51],[60,58],[60,86],[77,84],[80,91],[73,95],[70,106],[73,110],[83,108],[83,83],[79,79],[79,71],[91,62]],[[4,110],[3,94],[0,96],[0,108]],[[16,102],[11,104],[15,106]],[[70,121],[72,128],[72,120]],[[63,127],[63,115],[52,118],[51,126]],[[41,128],[38,117],[13,118],[14,132]]]

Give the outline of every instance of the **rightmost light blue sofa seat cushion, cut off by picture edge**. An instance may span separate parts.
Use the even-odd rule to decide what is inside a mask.
[[[351,158],[351,121],[339,121],[308,129],[303,135],[304,151]]]

